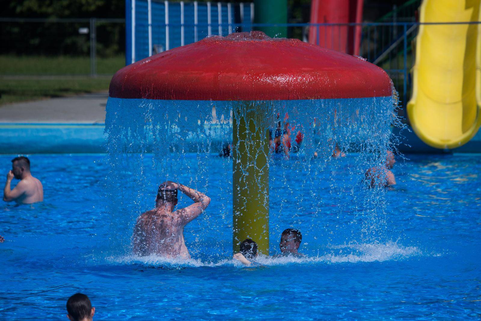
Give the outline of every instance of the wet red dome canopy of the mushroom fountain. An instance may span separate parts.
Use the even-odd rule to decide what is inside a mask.
[[[361,58],[263,32],[213,36],[120,69],[116,98],[295,100],[382,97],[389,76]]]

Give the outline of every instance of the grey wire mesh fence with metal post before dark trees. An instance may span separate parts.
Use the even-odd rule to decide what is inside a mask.
[[[0,75],[101,76],[125,66],[125,19],[0,18]]]

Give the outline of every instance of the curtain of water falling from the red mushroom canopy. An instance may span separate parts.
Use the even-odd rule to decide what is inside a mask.
[[[396,96],[253,102],[265,117],[246,119],[250,126],[275,135],[280,122],[292,146],[298,131],[304,135],[289,158],[272,149],[259,151],[268,160],[266,206],[274,246],[287,227],[302,230],[311,253],[319,242],[398,238],[386,225],[386,190],[361,184],[366,169],[382,165],[385,151],[394,148],[396,104]],[[137,216],[153,207],[156,187],[167,179],[202,190],[216,204],[186,227],[191,254],[202,254],[205,247],[212,257],[230,252],[232,158],[215,155],[239,134],[232,132],[232,119],[242,117],[237,102],[109,98],[107,211],[114,252],[129,253]],[[332,157],[336,145],[347,157]]]

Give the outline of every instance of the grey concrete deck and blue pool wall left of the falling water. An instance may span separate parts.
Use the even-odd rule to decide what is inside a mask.
[[[108,93],[0,107],[0,154],[103,153]]]

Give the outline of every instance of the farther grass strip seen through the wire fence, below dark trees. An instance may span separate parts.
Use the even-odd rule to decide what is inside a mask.
[[[113,75],[125,66],[124,55],[96,61],[98,75]],[[90,57],[0,55],[0,75],[90,75]]]

